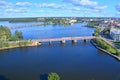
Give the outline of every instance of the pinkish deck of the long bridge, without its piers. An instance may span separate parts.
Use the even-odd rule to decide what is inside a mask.
[[[89,40],[94,39],[94,36],[85,37],[62,37],[62,38],[46,38],[46,39],[36,39],[38,42],[52,42],[52,41],[62,41],[62,40]]]

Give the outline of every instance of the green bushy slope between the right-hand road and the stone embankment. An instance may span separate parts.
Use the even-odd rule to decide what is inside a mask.
[[[113,46],[111,46],[110,44],[108,44],[107,42],[105,42],[103,39],[95,38],[95,39],[93,39],[93,41],[94,41],[94,43],[96,43],[96,45],[98,47],[110,52],[111,54],[120,56],[120,51],[117,50],[116,48],[114,48]]]

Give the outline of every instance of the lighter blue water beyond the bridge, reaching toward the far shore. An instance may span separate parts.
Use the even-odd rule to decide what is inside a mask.
[[[1,25],[5,26],[23,26],[36,24],[35,22],[28,23],[8,23],[0,22]],[[16,24],[16,25],[15,25]],[[61,27],[60,25],[47,25],[47,26],[33,26],[27,28],[12,29],[12,34],[16,30],[19,30],[23,33],[24,39],[40,39],[40,38],[56,38],[56,37],[73,37],[73,36],[89,36],[93,33],[93,28],[81,27],[84,24],[74,24],[71,26]]]

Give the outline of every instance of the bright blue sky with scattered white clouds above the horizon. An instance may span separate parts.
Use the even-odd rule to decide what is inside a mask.
[[[0,18],[120,17],[120,0],[0,0]]]

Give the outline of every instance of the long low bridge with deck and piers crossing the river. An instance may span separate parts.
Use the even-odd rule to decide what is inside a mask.
[[[33,42],[35,44],[43,43],[43,42],[49,42],[51,44],[51,42],[60,41],[62,44],[65,44],[65,42],[68,41],[68,40],[71,40],[72,43],[77,43],[77,40],[84,40],[84,42],[86,42],[86,40],[91,40],[91,39],[94,39],[94,38],[95,38],[95,36],[45,38],[45,39],[36,39],[36,40],[33,40]]]

